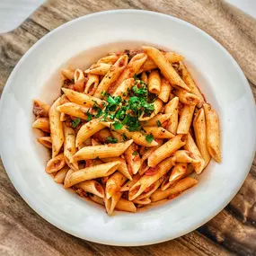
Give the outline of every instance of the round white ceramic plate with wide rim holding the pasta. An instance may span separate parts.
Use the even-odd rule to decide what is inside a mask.
[[[59,75],[70,57],[88,66],[111,50],[142,44],[172,49],[186,57],[201,91],[219,114],[223,162],[210,163],[199,184],[179,198],[137,214],[107,216],[102,207],[64,190],[44,171],[46,150],[31,128],[32,99],[52,102]],[[84,55],[83,55],[84,56]],[[40,216],[69,234],[97,243],[143,245],[186,234],[215,216],[234,197],[255,151],[255,110],[243,72],[205,32],[171,16],[134,10],[94,13],[68,22],[37,42],[15,66],[0,110],[1,154],[22,198]]]

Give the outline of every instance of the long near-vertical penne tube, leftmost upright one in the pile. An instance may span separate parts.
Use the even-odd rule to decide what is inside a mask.
[[[52,157],[55,157],[64,143],[63,127],[60,121],[60,113],[57,107],[60,105],[60,98],[52,104],[49,109],[49,127],[52,143]]]

